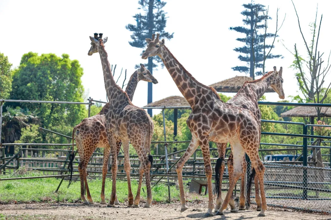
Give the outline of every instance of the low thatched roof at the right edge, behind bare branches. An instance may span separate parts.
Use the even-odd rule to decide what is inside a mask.
[[[326,110],[326,112],[325,112]],[[317,117],[315,107],[299,106],[280,114],[282,117]],[[321,117],[331,117],[331,109],[322,107]]]

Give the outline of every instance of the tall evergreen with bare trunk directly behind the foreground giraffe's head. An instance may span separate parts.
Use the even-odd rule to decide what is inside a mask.
[[[137,24],[128,24],[126,29],[132,31],[129,44],[132,47],[144,48],[146,47],[145,38],[151,38],[153,33],[160,33],[162,38],[171,39],[173,33],[170,34],[164,29],[166,27],[166,13],[163,7],[166,5],[165,1],[161,0],[139,0],[139,8],[143,14],[139,13],[134,15]],[[154,60],[154,62],[153,62]],[[148,70],[153,74],[153,68],[157,67],[157,63],[161,62],[159,57],[148,57]],[[148,83],[147,103],[152,102],[152,83]],[[148,113],[152,115],[152,110],[149,109]]]

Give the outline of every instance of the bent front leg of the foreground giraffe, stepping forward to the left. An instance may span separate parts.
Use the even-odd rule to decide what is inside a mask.
[[[188,207],[186,206],[186,199],[185,199],[184,185],[183,185],[183,176],[182,176],[183,166],[185,162],[192,156],[192,154],[195,152],[198,146],[199,146],[198,140],[192,136],[189,146],[187,147],[184,155],[182,156],[182,158],[180,158],[176,166],[176,172],[178,176],[178,186],[180,191],[181,212],[188,209]]]

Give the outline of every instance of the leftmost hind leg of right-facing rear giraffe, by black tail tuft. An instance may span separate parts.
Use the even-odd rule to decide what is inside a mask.
[[[217,145],[217,150],[218,150],[218,159],[216,161],[216,166],[215,166],[215,185],[216,185],[216,193],[217,193],[217,198],[216,198],[216,206],[214,209],[214,212],[217,212],[217,210],[221,207],[222,204],[222,181],[223,181],[223,173],[224,173],[224,168],[225,168],[225,151],[226,151],[226,143],[216,143]],[[218,169],[217,163],[218,160],[220,160],[220,168]],[[218,172],[218,176],[217,176]],[[218,178],[218,189],[217,189],[217,179]]]

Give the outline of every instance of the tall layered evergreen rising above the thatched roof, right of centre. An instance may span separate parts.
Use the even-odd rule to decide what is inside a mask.
[[[263,23],[266,18],[271,19],[270,16],[265,12],[265,6],[260,4],[254,4],[253,1],[250,4],[243,4],[245,10],[240,14],[245,16],[243,19],[244,25],[248,27],[238,26],[230,27],[230,30],[235,30],[239,33],[246,35],[245,38],[237,38],[237,41],[245,43],[244,47],[236,47],[235,51],[243,53],[244,55],[239,55],[238,58],[241,61],[247,62],[247,66],[236,66],[232,67],[234,71],[239,71],[241,73],[250,74],[253,79],[255,76],[261,75],[261,71],[255,72],[255,68],[263,67],[263,49],[273,48],[273,45],[265,45],[263,48],[264,38],[274,38],[275,34],[264,33],[265,24]],[[254,56],[253,56],[254,55]],[[266,59],[279,58],[282,55],[274,55],[269,53]],[[254,65],[255,64],[255,65]]]

